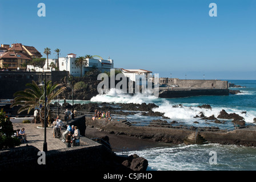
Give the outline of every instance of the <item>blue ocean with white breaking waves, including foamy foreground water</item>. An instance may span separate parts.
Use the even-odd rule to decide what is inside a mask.
[[[224,109],[227,113],[237,113],[245,118],[246,125],[254,125],[256,118],[256,80],[228,80],[244,88],[230,88],[242,93],[230,96],[195,96],[185,98],[156,98],[137,94],[129,96],[110,90],[108,94],[98,95],[90,101],[75,101],[75,103],[109,102],[109,103],[155,103],[159,107],[153,111],[165,113],[167,122],[177,121],[189,126],[218,126],[227,128],[233,126],[228,119],[221,119],[223,123],[205,122],[194,118],[201,111],[206,117],[218,116]],[[201,109],[197,106],[209,104],[211,109]],[[173,107],[173,105],[180,105]],[[243,112],[243,113],[242,113]],[[132,121],[150,121],[154,117],[142,116],[139,113],[128,115]],[[198,123],[195,123],[197,121]],[[256,148],[221,144],[174,145],[172,147],[150,148],[141,151],[129,151],[129,154],[138,154],[149,162],[148,171],[248,171],[256,169]]]

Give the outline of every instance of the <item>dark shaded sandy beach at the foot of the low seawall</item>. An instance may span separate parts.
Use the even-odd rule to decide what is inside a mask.
[[[85,137],[87,138],[101,138],[109,137],[109,143],[113,148],[127,148],[128,151],[145,150],[147,148],[156,147],[170,147],[171,143],[155,142],[151,139],[139,139],[137,137],[130,137],[127,135],[110,134],[106,131],[99,131],[96,128],[86,127]]]

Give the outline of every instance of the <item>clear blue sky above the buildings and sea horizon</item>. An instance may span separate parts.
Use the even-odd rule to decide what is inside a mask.
[[[254,0],[1,0],[0,23],[1,44],[34,46],[43,57],[59,48],[161,77],[256,80]]]

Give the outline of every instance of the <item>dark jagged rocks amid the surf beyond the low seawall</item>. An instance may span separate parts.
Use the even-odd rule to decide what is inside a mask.
[[[121,115],[134,115],[139,112],[143,116],[159,117],[159,119],[157,119],[158,122],[167,123],[167,121],[164,119],[171,119],[171,118],[165,117],[164,113],[153,111],[153,109],[156,107],[158,107],[158,105],[155,105],[153,103],[114,104],[114,103],[102,102],[101,104],[89,103],[89,104],[74,105],[75,110],[91,112],[91,113],[94,113],[95,110],[110,111],[111,114],[121,114]],[[172,107],[184,107],[184,106],[180,104],[180,105],[173,105]],[[198,107],[201,109],[211,109],[211,106],[207,104],[201,105]],[[65,110],[66,108],[71,109],[72,105],[70,105],[69,103],[66,103],[61,106],[62,110]],[[246,113],[246,111],[243,111],[242,114],[243,113]],[[236,113],[227,113],[224,109],[220,111],[219,115],[216,115],[216,116],[211,115],[210,117],[206,117],[201,111],[199,115],[195,115],[194,118],[200,118],[205,120],[206,122],[214,122],[214,123],[225,123],[225,121],[221,121],[221,119],[233,119],[232,122],[239,125],[240,127],[243,127],[246,125],[245,118],[243,118],[241,115]],[[155,120],[153,122],[156,123],[157,121]],[[254,122],[256,122],[256,117],[254,118]],[[172,121],[170,122],[170,125],[174,123],[177,124],[178,122]]]

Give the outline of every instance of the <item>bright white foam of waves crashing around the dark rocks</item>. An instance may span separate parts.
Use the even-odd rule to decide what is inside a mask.
[[[159,101],[161,101],[159,103]],[[183,107],[173,107],[174,103],[171,103],[170,100],[166,99],[159,99],[157,97],[148,95],[148,94],[126,94],[122,93],[121,90],[118,89],[110,89],[107,94],[98,94],[97,96],[91,98],[91,102],[109,102],[109,103],[134,103],[134,104],[142,104],[143,102],[146,103],[156,103],[159,107],[153,109],[153,111],[158,111],[164,113],[165,117],[169,117],[172,120],[182,121],[187,124],[193,124],[194,121],[199,121],[199,123],[204,123],[202,120],[194,118],[196,115],[200,115],[200,112],[206,117],[210,117],[214,115],[217,117],[222,109],[226,110],[227,113],[237,113],[245,118],[245,121],[248,123],[253,122],[253,119],[256,117],[256,111],[251,110],[247,111],[246,114],[241,114],[244,110],[234,109],[231,107],[212,107],[211,109],[202,109],[197,107],[199,104],[192,103],[192,104],[183,104]],[[158,101],[158,103],[156,102]],[[191,107],[190,107],[191,106]],[[138,116],[139,117],[139,116]]]

